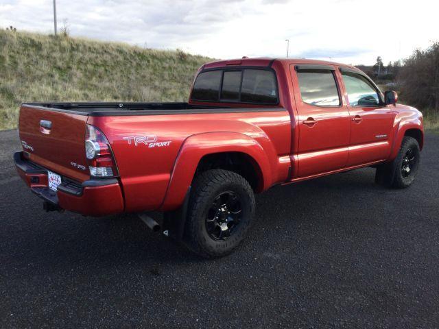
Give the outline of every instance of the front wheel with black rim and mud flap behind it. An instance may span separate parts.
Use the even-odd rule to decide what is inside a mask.
[[[414,182],[418,173],[420,149],[418,141],[410,136],[403,138],[401,149],[396,158],[377,168],[375,181],[394,188],[406,188]]]

